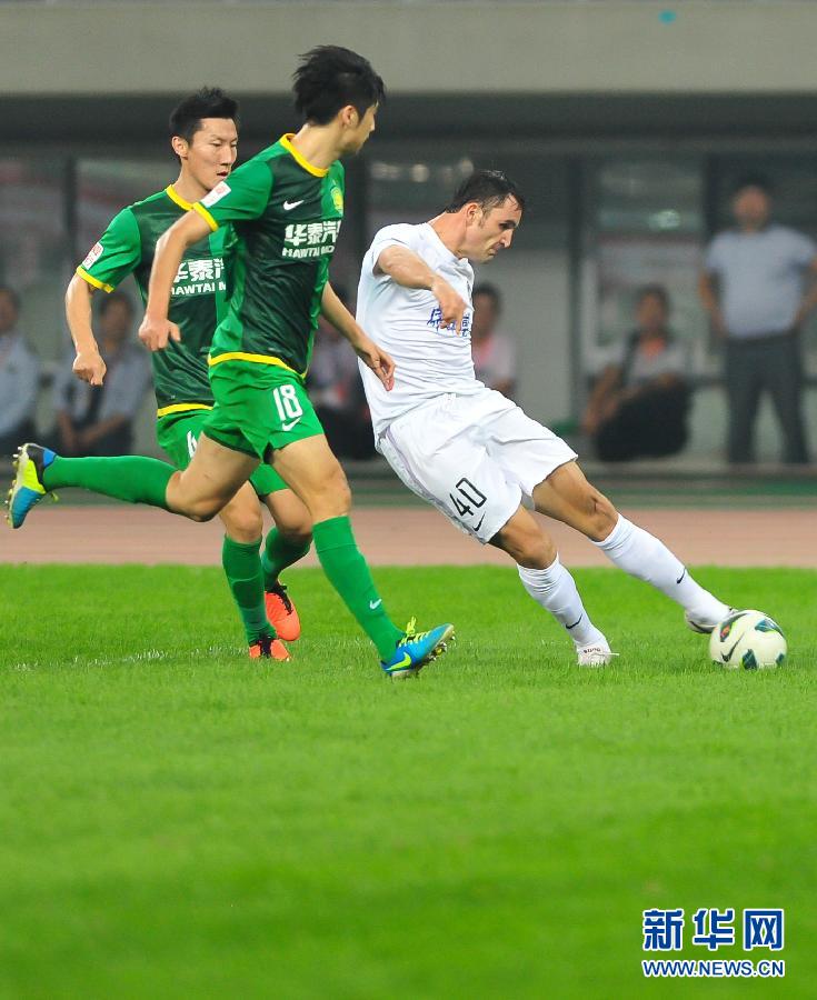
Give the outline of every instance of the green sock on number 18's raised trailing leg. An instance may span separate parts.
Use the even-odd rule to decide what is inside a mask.
[[[172,466],[140,454],[113,458],[64,459],[57,456],[42,473],[47,490],[61,487],[81,487],[104,497],[128,500],[130,503],[149,503],[168,510],[167,493]]]

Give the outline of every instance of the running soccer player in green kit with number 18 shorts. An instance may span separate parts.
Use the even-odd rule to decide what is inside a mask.
[[[393,386],[393,361],[366,336],[327,280],[343,214],[339,160],[369,138],[383,84],[361,56],[323,46],[302,57],[295,96],[306,119],[300,131],[283,136],[218,183],[157,246],[139,333],[153,351],[181,340],[168,303],[187,248],[227,224],[238,240],[228,312],[210,350],[216,407],[189,467],[179,473],[153,459],[128,457],[98,459],[104,464],[80,469],[77,462],[83,460],[26,446],[9,517],[19,527],[47,491],[86,486],[207,520],[259,461],[269,461],[309,509],[321,566],[377,647],[382,670],[408,677],[445,650],[454,628],[416,632],[410,623],[403,631],[386,614],[352,536],[346,477],[303,388],[321,312],[385,389]]]

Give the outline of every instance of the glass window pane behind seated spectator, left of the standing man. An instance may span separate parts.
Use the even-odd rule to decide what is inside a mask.
[[[588,374],[620,351],[634,328],[637,289],[661,284],[670,324],[709,370],[708,329],[697,293],[704,163],[699,157],[621,157],[591,162],[584,234],[582,356]]]

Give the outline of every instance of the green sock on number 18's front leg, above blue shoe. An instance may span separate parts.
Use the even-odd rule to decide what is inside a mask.
[[[355,541],[349,518],[320,521],[312,532],[315,550],[329,582],[377,646],[380,659],[391,659],[403,633],[386,613],[369,567]]]

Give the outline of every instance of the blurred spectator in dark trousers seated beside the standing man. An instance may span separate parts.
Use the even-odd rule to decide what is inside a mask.
[[[687,354],[669,311],[664,286],[640,289],[636,329],[592,389],[584,429],[605,462],[675,454],[687,441]]]

